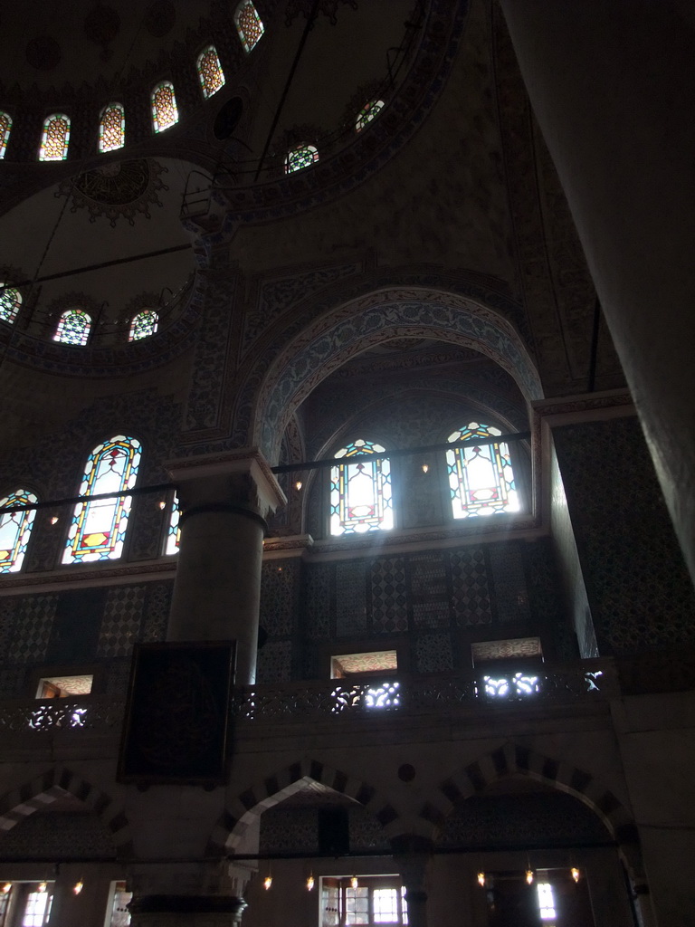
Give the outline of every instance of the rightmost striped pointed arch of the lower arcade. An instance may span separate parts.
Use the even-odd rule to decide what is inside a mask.
[[[625,806],[593,776],[562,760],[542,756],[518,743],[506,743],[441,782],[432,802],[420,811],[431,828],[440,829],[454,806],[505,776],[528,776],[574,795],[603,821],[616,843],[630,844],[637,829]]]

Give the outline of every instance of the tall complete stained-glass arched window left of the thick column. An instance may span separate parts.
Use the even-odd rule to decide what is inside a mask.
[[[140,465],[141,445],[136,438],[116,435],[98,444],[87,458],[81,496],[133,489]],[[113,496],[95,502],[78,502],[72,514],[64,564],[116,560],[123,552],[132,496]]]

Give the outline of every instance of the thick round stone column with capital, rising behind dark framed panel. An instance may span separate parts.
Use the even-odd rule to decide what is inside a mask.
[[[256,680],[265,518],[283,490],[256,448],[173,461],[181,543],[168,639],[237,641],[236,682]]]

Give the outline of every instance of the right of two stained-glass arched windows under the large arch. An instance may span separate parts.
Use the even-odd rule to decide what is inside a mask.
[[[499,428],[471,422],[447,439],[455,443],[479,438],[482,442],[498,435]],[[447,474],[454,518],[519,511],[509,447],[504,441],[452,448],[447,451]]]

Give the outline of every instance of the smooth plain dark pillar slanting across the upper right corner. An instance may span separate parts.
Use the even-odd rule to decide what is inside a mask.
[[[695,13],[500,0],[695,578]]]

